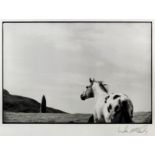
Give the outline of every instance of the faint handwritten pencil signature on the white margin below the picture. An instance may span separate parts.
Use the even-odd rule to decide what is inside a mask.
[[[147,134],[148,133],[148,125],[144,124],[139,127],[132,127],[131,125],[119,126],[118,133],[138,133],[138,134]]]

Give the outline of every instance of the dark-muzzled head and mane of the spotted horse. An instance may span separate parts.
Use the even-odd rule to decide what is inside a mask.
[[[95,79],[89,78],[89,82],[90,82],[90,85],[86,86],[86,90],[81,94],[82,100],[94,97],[93,88],[98,86],[104,92],[108,93],[107,84],[104,84],[102,81],[96,81]]]

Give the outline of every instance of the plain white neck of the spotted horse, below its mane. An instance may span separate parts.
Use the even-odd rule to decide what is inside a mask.
[[[93,88],[93,91],[96,103],[102,102],[107,96],[107,93],[104,92],[98,85]]]

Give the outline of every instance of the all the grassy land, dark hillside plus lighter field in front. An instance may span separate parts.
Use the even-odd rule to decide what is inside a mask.
[[[91,114],[68,114],[47,107],[47,113],[40,113],[40,103],[34,99],[3,91],[4,123],[76,123],[87,124]],[[152,123],[151,112],[135,112],[134,123]]]

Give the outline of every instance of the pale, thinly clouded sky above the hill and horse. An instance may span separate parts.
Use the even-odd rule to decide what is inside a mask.
[[[93,112],[89,78],[151,111],[150,23],[5,23],[4,88],[69,113]]]

